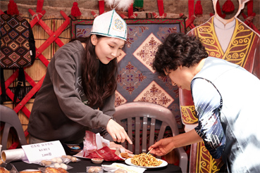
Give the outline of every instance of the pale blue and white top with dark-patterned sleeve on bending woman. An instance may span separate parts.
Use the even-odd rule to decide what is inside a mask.
[[[239,65],[208,57],[192,79],[195,130],[229,172],[260,172],[260,80]]]

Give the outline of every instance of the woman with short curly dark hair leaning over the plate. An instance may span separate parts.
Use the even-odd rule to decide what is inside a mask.
[[[153,63],[172,84],[192,91],[198,126],[190,132],[154,143],[150,153],[166,155],[174,148],[204,141],[213,158],[223,158],[228,172],[260,172],[260,80],[244,68],[208,57],[199,38],[169,34]],[[246,90],[247,94],[241,91]]]

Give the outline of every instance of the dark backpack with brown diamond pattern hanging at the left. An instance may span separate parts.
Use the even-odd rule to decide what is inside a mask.
[[[27,20],[19,15],[14,15],[12,18],[11,15],[4,13],[1,15],[0,22],[1,68],[16,69],[32,65],[34,59],[31,60],[29,53],[30,32]]]

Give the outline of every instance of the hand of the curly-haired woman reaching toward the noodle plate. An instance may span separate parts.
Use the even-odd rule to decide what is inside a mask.
[[[151,150],[153,148],[153,150]],[[151,145],[148,150],[151,150],[151,154],[155,154],[158,156],[166,155],[171,150],[174,149],[173,139],[172,137],[161,139],[160,141],[154,143],[154,145]]]

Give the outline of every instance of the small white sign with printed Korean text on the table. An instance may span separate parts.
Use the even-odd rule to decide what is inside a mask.
[[[66,155],[60,141],[49,141],[22,146],[30,163],[40,160],[51,160],[52,158]]]

